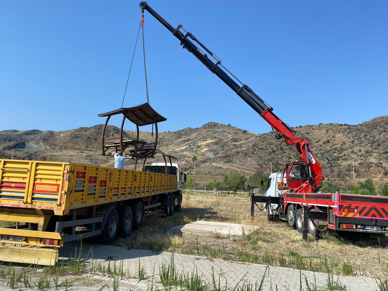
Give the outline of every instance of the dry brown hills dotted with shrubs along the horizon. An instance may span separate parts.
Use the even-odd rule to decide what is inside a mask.
[[[10,158],[11,149],[17,149],[15,158],[50,161],[69,161],[101,166],[113,166],[113,158],[100,155],[102,125],[80,127],[65,131],[3,130],[0,132],[0,158]],[[388,116],[381,116],[358,125],[327,123],[294,128],[298,135],[310,140],[324,176],[329,177],[329,157],[333,175],[337,178],[388,178]],[[116,126],[107,127],[107,136],[119,134]],[[135,136],[125,131],[125,137]],[[141,132],[140,138],[152,140],[150,132]],[[239,171],[246,176],[259,170],[281,170],[284,163],[297,159],[296,153],[274,132],[255,134],[231,125],[214,122],[199,128],[184,128],[175,132],[159,133],[158,148],[178,158],[178,163],[196,181],[210,181],[213,176]],[[162,159],[163,160],[163,159]],[[195,160],[195,161],[194,161]],[[155,161],[161,161],[160,158]],[[133,161],[126,162],[127,165]]]

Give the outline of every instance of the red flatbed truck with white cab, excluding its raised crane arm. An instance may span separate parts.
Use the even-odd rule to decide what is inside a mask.
[[[294,179],[297,172],[290,174]],[[291,179],[291,177],[289,177]],[[385,236],[388,233],[388,197],[362,196],[345,193],[296,193],[284,190],[280,183],[284,172],[272,173],[268,178],[265,196],[256,194],[251,199],[251,215],[255,204],[265,203],[268,220],[279,217],[291,227],[303,231],[303,218],[308,209],[306,230],[317,236],[325,230],[369,233]]]

